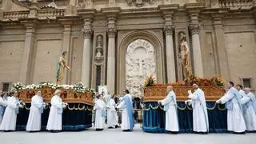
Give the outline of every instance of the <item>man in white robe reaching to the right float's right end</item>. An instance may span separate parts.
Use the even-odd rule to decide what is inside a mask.
[[[234,134],[245,134],[246,122],[242,114],[241,98],[238,90],[234,88],[233,82],[227,82],[227,94],[218,99],[216,103],[225,104],[227,109],[227,130]]]

